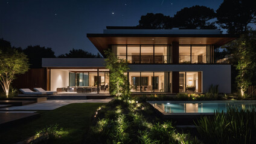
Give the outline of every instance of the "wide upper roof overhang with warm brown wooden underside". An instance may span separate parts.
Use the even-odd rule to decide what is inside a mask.
[[[114,44],[213,44],[223,46],[239,35],[230,34],[87,34],[94,46],[104,55],[104,49]]]

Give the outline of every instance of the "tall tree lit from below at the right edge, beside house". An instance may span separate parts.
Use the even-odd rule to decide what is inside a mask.
[[[256,31],[246,31],[237,40],[226,44],[224,47],[230,55],[231,64],[236,70],[232,70],[235,76],[235,84],[241,95],[249,85],[256,85]]]

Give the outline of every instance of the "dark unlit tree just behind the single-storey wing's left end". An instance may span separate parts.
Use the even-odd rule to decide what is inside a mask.
[[[38,46],[28,46],[23,50],[25,55],[28,56],[30,68],[41,68],[42,58],[56,58],[51,48]]]

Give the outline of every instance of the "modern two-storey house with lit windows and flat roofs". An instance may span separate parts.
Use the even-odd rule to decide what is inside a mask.
[[[220,29],[136,29],[107,26],[87,34],[104,55],[112,49],[126,59],[132,92],[205,93],[210,85],[231,93],[231,65],[214,62],[214,49],[238,38]],[[43,58],[47,89],[59,92],[107,93],[109,70],[104,58]]]

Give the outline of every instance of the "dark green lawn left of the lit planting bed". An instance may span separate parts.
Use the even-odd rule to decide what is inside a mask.
[[[81,143],[91,124],[91,116],[103,103],[68,104],[51,111],[39,111],[40,118],[16,125],[11,128],[1,128],[0,143],[16,143],[34,136],[36,131],[46,126],[59,124],[63,128],[61,137],[54,143]]]

